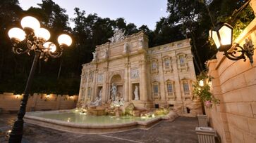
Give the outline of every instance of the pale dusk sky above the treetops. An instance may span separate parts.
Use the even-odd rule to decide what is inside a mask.
[[[23,10],[37,6],[42,0],[19,0]],[[69,18],[74,18],[74,8],[84,10],[86,14],[97,13],[101,18],[125,18],[127,24],[134,23],[137,27],[147,25],[155,29],[156,22],[166,17],[167,0],[53,0],[61,8],[66,9]],[[70,22],[70,26],[74,24]]]

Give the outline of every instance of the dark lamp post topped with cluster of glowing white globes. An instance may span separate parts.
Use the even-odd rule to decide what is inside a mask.
[[[21,27],[12,28],[8,31],[8,36],[13,43],[13,53],[23,54],[30,51],[35,52],[35,57],[30,69],[28,81],[25,86],[23,100],[20,104],[20,110],[18,111],[18,119],[13,125],[11,130],[9,142],[21,142],[23,137],[23,117],[25,116],[25,109],[28,102],[28,93],[32,84],[32,79],[35,74],[38,59],[44,59],[47,61],[49,57],[60,57],[63,53],[63,48],[71,46],[71,36],[67,34],[61,34],[58,37],[59,46],[47,41],[50,39],[51,34],[47,29],[40,27],[40,23],[36,18],[32,16],[26,16],[20,21]],[[25,43],[25,48],[19,46],[18,43]]]

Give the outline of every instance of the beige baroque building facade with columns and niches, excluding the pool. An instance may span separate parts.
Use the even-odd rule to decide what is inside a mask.
[[[79,103],[94,102],[99,94],[101,102],[110,103],[114,86],[114,96],[135,107],[201,113],[201,104],[193,102],[190,39],[148,48],[144,32],[124,36],[118,30],[109,40],[96,47],[92,62],[83,64]]]

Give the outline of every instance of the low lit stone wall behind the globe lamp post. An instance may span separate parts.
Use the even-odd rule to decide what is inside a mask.
[[[15,113],[19,110],[20,101],[23,95],[13,95],[13,93],[0,94],[0,108],[4,113]],[[28,98],[26,111],[60,110],[74,109],[78,100],[78,95],[54,95],[35,93]]]

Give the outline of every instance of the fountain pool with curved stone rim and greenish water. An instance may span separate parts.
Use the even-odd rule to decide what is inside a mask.
[[[25,122],[46,128],[97,134],[107,132],[121,132],[135,128],[147,129],[161,121],[163,116],[141,118],[133,116],[87,116],[75,110],[35,111],[25,115]]]

